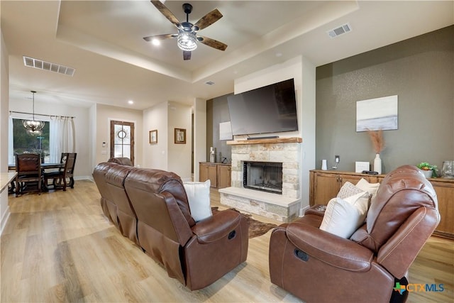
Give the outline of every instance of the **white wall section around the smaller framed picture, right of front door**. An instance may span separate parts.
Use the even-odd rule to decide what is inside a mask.
[[[167,102],[143,111],[143,167],[167,170]],[[157,130],[157,143],[150,144],[150,131]]]

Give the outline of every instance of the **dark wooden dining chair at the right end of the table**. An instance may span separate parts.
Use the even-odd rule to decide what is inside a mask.
[[[52,179],[52,185],[54,189],[62,188],[63,191],[66,191],[67,185],[71,188],[74,188],[74,166],[76,165],[77,153],[62,153],[62,158],[60,167],[55,172],[45,172],[44,173],[44,183],[48,184],[48,180]],[[67,182],[69,180],[69,184]]]

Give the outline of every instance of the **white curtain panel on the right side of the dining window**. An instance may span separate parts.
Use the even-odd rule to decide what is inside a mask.
[[[60,162],[62,153],[74,153],[76,149],[76,136],[74,119],[68,117],[56,117],[50,119],[49,151],[50,162]]]

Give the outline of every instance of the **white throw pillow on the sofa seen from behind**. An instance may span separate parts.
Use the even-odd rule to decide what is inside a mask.
[[[210,180],[205,182],[184,182],[189,210],[196,222],[213,216],[210,205]]]

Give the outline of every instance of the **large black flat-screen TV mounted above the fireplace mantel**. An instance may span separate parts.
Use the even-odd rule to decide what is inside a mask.
[[[294,79],[227,97],[233,136],[298,131]]]

